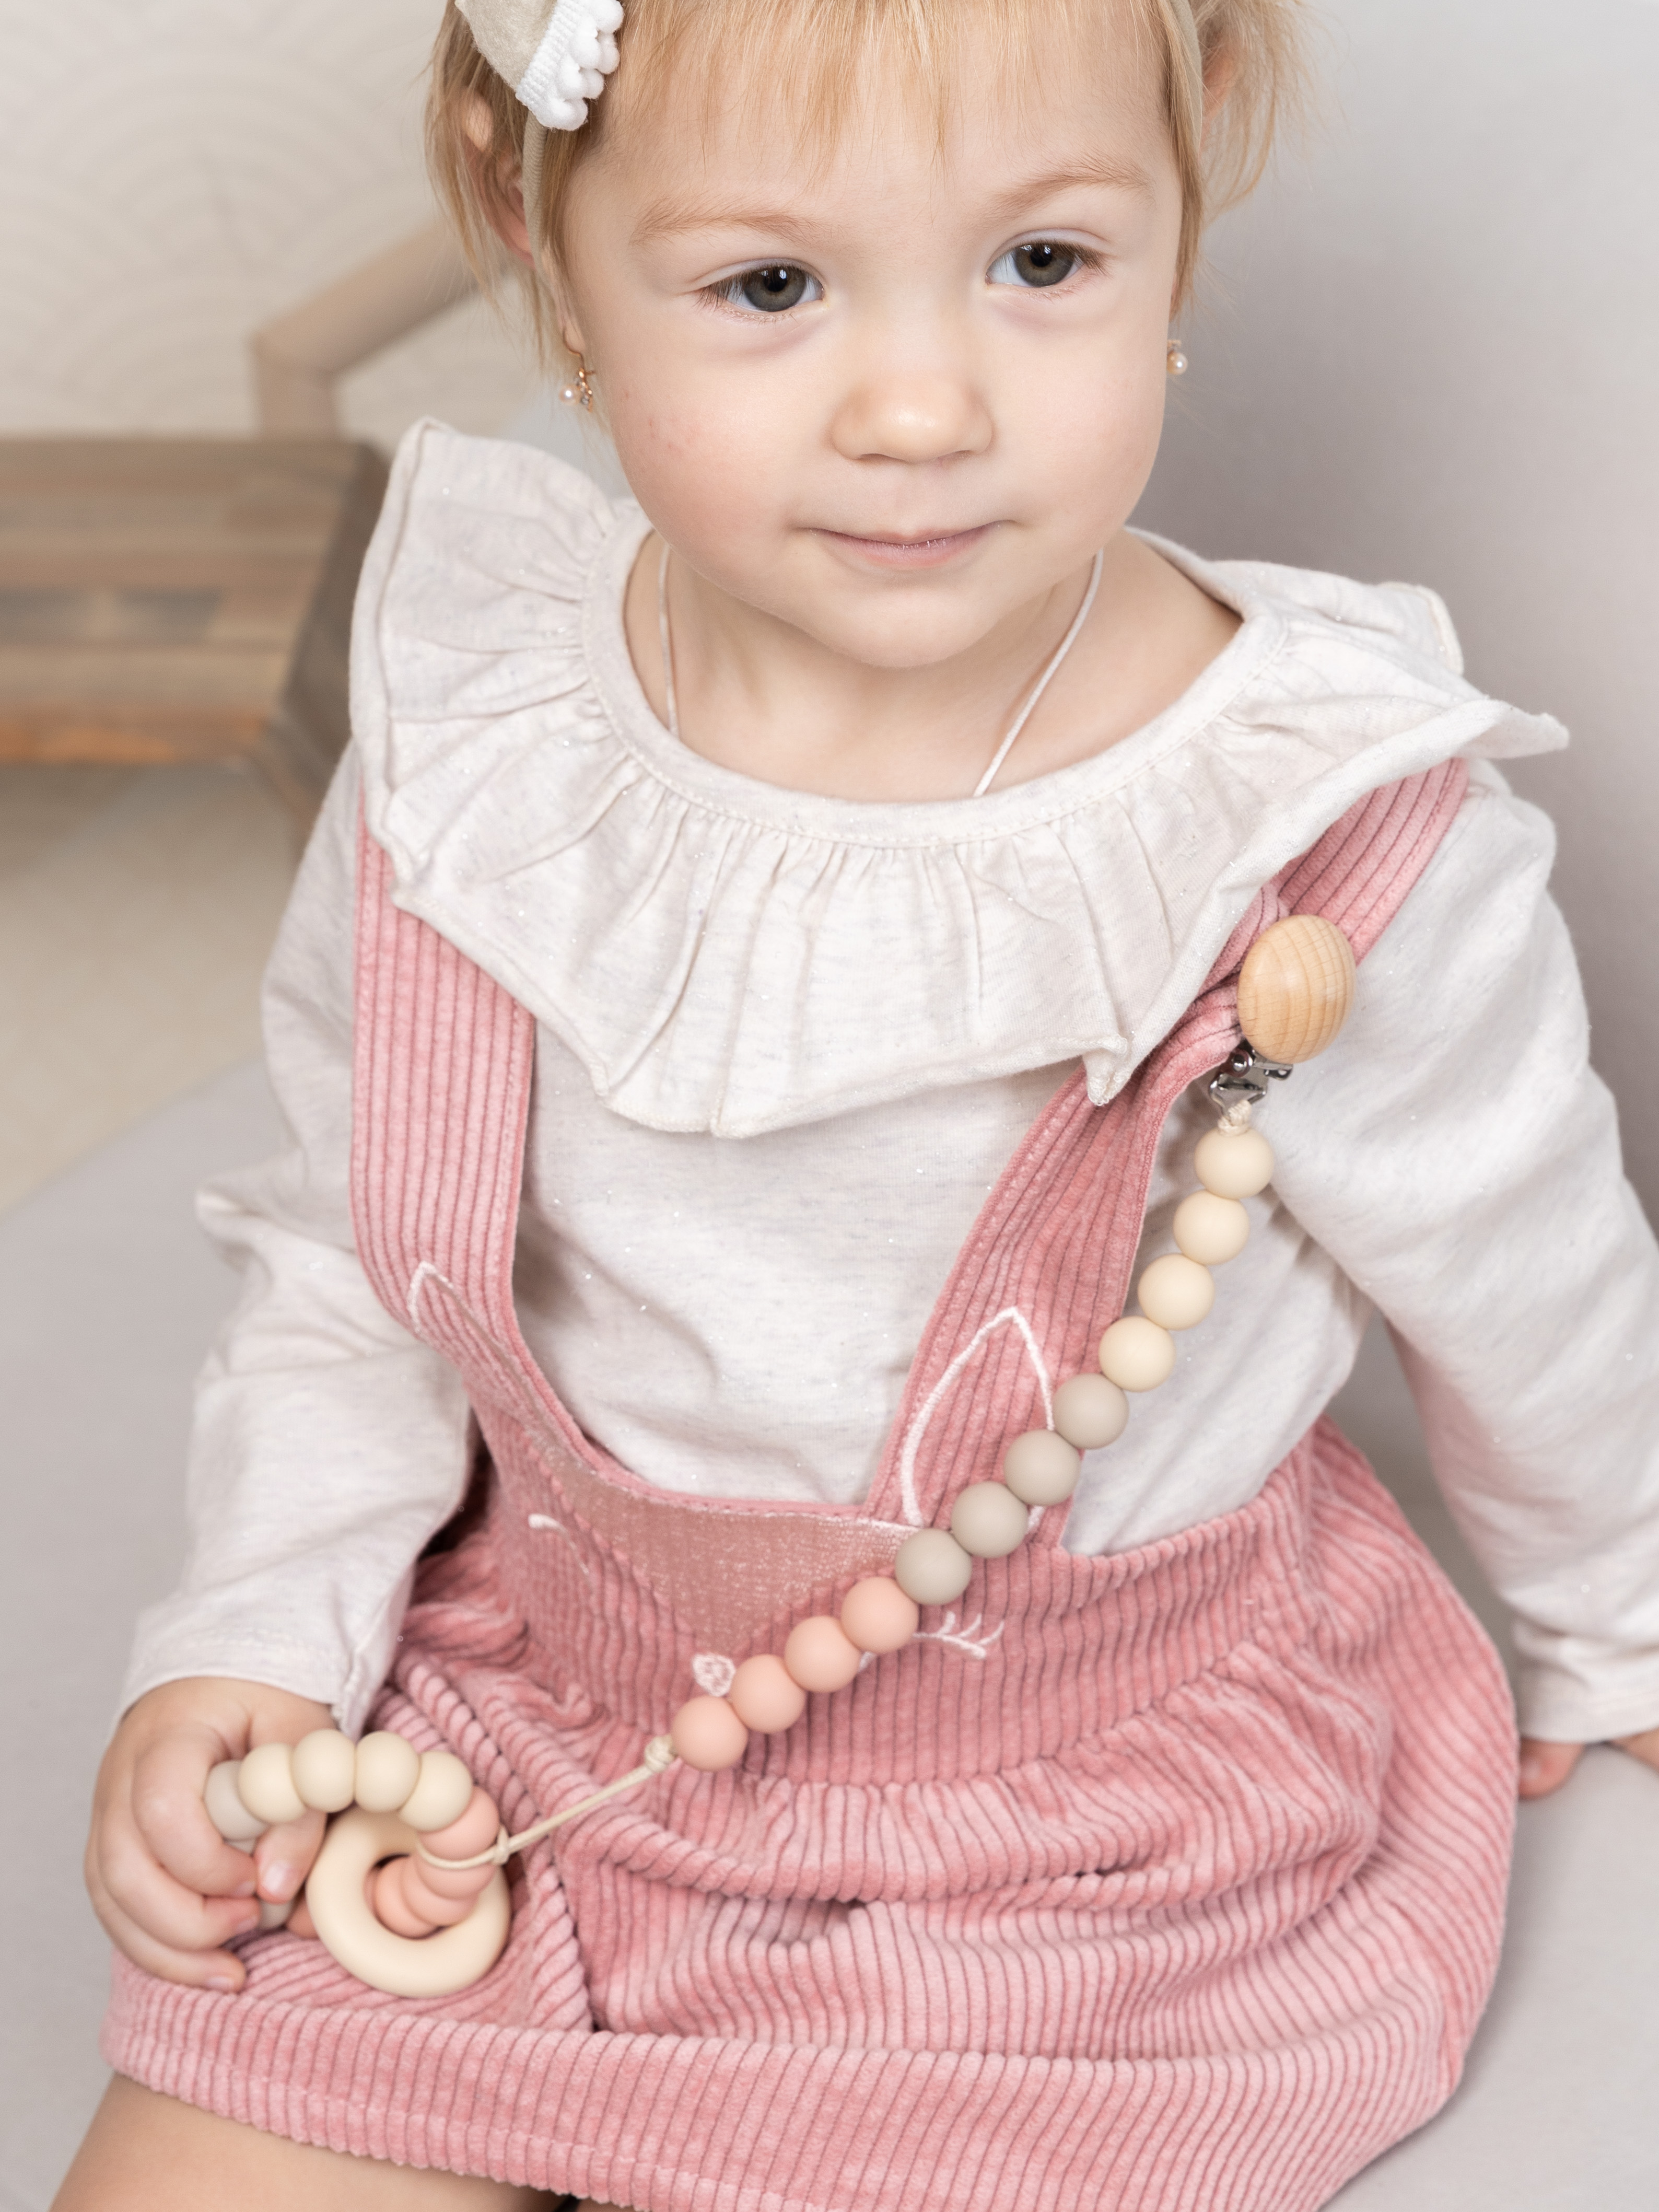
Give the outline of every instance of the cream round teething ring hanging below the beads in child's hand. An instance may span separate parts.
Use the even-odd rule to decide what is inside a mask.
[[[489,1887],[456,1927],[436,1936],[394,1936],[374,1918],[365,1885],[383,1858],[414,1854],[418,1843],[394,1812],[356,1805],[338,1814],[305,1882],[305,1902],[323,1947],[358,1982],[392,1997],[451,1997],[502,1955],[511,1922],[507,1876],[495,1867]]]

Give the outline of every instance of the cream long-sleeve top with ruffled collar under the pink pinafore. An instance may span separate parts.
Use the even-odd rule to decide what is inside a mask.
[[[431,427],[400,456],[356,745],[265,984],[290,1141],[201,1201],[246,1290],[199,1385],[186,1579],[128,1699],[239,1674],[356,1728],[460,1502],[460,1383],[352,1239],[361,807],[398,902],[538,1018],[515,1294],[582,1427],[670,1489],[856,1502],[951,1259],[1077,1057],[1110,1097],[1365,790],[1559,741],[1462,681],[1427,593],[1164,549],[1243,626],[1148,730],[987,801],[779,792],[650,717],[619,617],[641,533],[544,456]],[[1380,1307],[1515,1608],[1524,1725],[1590,1741],[1659,1721],[1659,1254],[1551,845],[1478,761],[1347,1031],[1276,1088],[1250,1245],[1088,1455],[1066,1542],[1250,1500]],[[1199,1095],[1170,1117],[1146,1256],[1206,1121]]]

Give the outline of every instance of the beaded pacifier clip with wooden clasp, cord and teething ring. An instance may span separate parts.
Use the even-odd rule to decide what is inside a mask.
[[[902,1650],[922,1606],[949,1606],[967,1590],[975,1559],[1002,1559],[1026,1540],[1031,1513],[1064,1504],[1084,1451],[1115,1444],[1130,1396],[1157,1389],[1175,1369],[1175,1334],[1214,1305],[1212,1267],[1237,1259],[1250,1237],[1243,1201],[1267,1188],[1274,1155],[1250,1115],[1267,1084],[1314,1060],[1354,1004],[1354,953],[1343,931],[1314,914],[1265,929],[1239,973],[1245,1042],[1210,1079],[1221,1106],[1199,1139],[1199,1188],[1175,1212],[1175,1252],[1155,1259],[1135,1285],[1139,1314],[1115,1321],[1099,1365],[1060,1383],[1053,1420],[1013,1438],[1002,1480],[958,1491],[947,1528],[905,1537],[891,1575],[867,1575],[841,1615],[796,1621],[783,1655],[757,1652],[719,1697],[692,1697],[641,1763],[593,1796],[509,1836],[495,1801],[453,1752],[418,1752],[376,1730],[352,1743],[319,1728],[301,1743],[261,1743],[208,1774],[212,1825],[241,1849],[265,1827],[310,1807],[334,1814],[305,1882],[305,1905],[323,1947],[369,1989],[394,1997],[447,1997],[489,1973],[507,1944],[511,1907],[504,1860],[540,1843],[606,1798],[684,1763],[703,1774],[734,1767],[750,1734],[779,1734],[805,1712],[807,1694],[843,1690],[867,1663]],[[261,1927],[281,1927],[292,1905],[265,1905]]]

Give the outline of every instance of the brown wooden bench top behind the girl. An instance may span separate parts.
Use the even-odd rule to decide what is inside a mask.
[[[232,759],[310,821],[385,480],[338,438],[0,440],[0,761]]]

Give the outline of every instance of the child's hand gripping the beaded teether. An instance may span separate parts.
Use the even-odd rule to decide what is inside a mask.
[[[307,1697],[217,1677],[164,1683],[131,1708],[104,1752],[86,1840],[93,1909],[131,1960],[168,1982],[241,1989],[241,1960],[221,1944],[259,1927],[257,1898],[299,1891],[323,1814],[265,1829],[250,1858],[208,1820],[208,1770],[332,1725]]]

